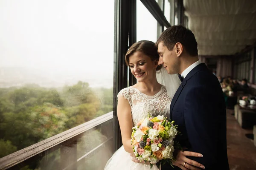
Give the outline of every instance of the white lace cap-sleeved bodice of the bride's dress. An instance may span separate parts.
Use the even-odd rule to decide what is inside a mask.
[[[122,89],[117,97],[124,96],[131,106],[133,125],[148,116],[164,115],[169,118],[171,99],[169,98],[166,87],[162,86],[160,91],[154,96],[141,93],[137,88],[128,87]]]

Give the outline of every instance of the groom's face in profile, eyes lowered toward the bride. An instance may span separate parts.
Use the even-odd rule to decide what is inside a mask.
[[[163,45],[163,42],[160,42],[157,52],[159,54],[158,65],[163,65],[168,74],[177,74],[179,60],[175,51],[169,51],[168,48]]]

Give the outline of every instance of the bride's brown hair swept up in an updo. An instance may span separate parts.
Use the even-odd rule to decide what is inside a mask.
[[[158,62],[159,60],[159,55],[157,53],[157,46],[155,45],[155,43],[148,40],[141,40],[131,45],[131,47],[125,54],[125,63],[126,65],[128,65],[128,67],[129,67],[129,57],[137,51],[143,52],[146,56],[150,57],[152,61]],[[161,69],[161,65],[158,65],[157,71],[160,69]]]

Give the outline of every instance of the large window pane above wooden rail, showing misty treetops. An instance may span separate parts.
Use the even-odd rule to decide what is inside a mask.
[[[0,25],[0,157],[113,111],[114,0],[1,0]]]

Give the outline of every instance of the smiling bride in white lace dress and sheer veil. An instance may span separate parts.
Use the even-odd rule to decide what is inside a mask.
[[[148,113],[151,116],[164,115],[169,118],[172,97],[181,83],[177,75],[167,74],[165,69],[158,65],[158,59],[157,47],[154,42],[147,40],[134,43],[125,55],[125,62],[136,77],[137,84],[122,89],[117,95],[117,116],[123,145],[109,159],[105,170],[150,170],[150,165],[131,160],[135,159],[130,156],[133,154],[132,127],[147,117]],[[184,154],[178,153],[176,161],[181,161],[184,157]],[[184,161],[180,164],[185,166]],[[200,165],[202,164],[197,163],[196,166]],[[158,168],[154,165],[152,169]]]

